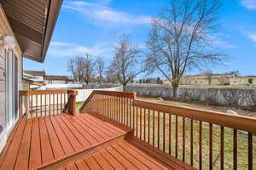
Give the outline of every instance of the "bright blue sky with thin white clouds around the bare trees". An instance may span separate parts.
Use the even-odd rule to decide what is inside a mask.
[[[25,70],[69,75],[67,61],[77,54],[100,55],[108,65],[122,33],[145,47],[150,18],[168,0],[64,0],[44,64],[24,59]],[[256,75],[256,0],[224,0],[214,46],[230,56],[226,65],[206,68],[215,73],[240,71]],[[196,71],[192,73],[197,73]],[[152,75],[152,76],[155,76]]]

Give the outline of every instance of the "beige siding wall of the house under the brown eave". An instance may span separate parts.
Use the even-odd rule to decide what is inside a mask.
[[[11,26],[9,25],[9,20],[6,17],[6,14],[4,13],[3,7],[0,3],[0,151],[3,149],[3,145],[6,142],[6,139],[9,136],[9,133],[11,132],[12,128],[15,126],[15,122],[17,121],[17,116],[12,117],[11,122],[9,122],[9,126],[7,126],[7,117],[10,115],[10,113],[7,111],[7,87],[6,83],[8,80],[9,75],[7,74],[7,55],[5,53],[6,50],[10,51],[10,54],[15,54],[15,57],[17,59],[17,70],[15,68],[12,68],[13,71],[18,71],[17,74],[17,90],[19,91],[22,89],[21,84],[21,77],[22,77],[22,53],[20,50],[20,45],[15,39],[15,46],[9,47],[6,43],[3,41],[3,37],[10,36],[15,37],[14,31],[12,30]],[[14,53],[11,53],[11,52]],[[16,94],[19,95],[18,92]],[[14,96],[13,96],[14,97]],[[17,105],[16,105],[17,106]],[[18,112],[19,108],[13,108],[13,110]],[[18,114],[18,113],[17,113]]]

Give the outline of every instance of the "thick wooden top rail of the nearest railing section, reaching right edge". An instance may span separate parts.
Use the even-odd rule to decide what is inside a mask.
[[[251,116],[230,115],[224,112],[207,111],[177,105],[166,105],[139,99],[135,99],[133,105],[155,111],[162,111],[166,114],[183,116],[196,121],[208,122],[219,126],[256,133],[256,118]]]

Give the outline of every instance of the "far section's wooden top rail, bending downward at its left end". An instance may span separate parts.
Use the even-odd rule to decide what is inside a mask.
[[[113,97],[124,97],[128,99],[137,99],[137,94],[135,92],[119,92],[119,91],[103,91],[103,90],[93,90],[89,97],[81,105],[79,112],[84,112],[85,106],[90,102],[90,99],[93,98],[95,94],[108,95]]]

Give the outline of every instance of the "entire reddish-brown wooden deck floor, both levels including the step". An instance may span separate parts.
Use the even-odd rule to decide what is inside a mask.
[[[145,150],[129,133],[90,114],[22,118],[3,148],[0,169],[191,169]]]

